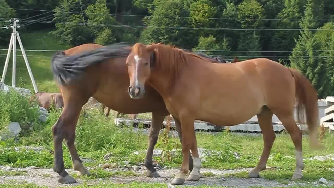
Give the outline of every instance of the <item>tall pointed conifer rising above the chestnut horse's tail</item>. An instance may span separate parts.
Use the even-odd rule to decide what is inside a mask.
[[[320,49],[320,44],[315,40],[310,28],[314,28],[315,22],[312,12],[312,0],[308,0],[305,6],[305,13],[300,27],[300,32],[296,46],[290,56],[291,66],[301,71],[318,90],[318,97],[323,98],[329,92],[329,76],[326,64],[316,60],[320,53],[315,52]],[[303,52],[305,51],[305,52]]]

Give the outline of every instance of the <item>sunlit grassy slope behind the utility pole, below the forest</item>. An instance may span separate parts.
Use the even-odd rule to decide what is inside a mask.
[[[23,48],[25,50],[66,50],[69,45],[60,45],[57,38],[48,33],[49,30],[41,30],[33,33],[20,33]],[[1,44],[0,48],[8,49],[8,44]],[[17,43],[16,49],[20,49]],[[13,53],[13,52],[12,52]],[[50,69],[50,59],[54,52],[27,52],[27,59],[39,91],[58,92],[53,82],[53,75]],[[0,52],[0,71],[4,68],[7,50]],[[16,86],[31,89],[32,83],[29,77],[21,51],[16,52]],[[1,76],[0,75],[0,76]],[[20,80],[22,81],[20,82]],[[20,86],[19,83],[22,83]],[[12,85],[12,55],[9,60],[5,84]]]

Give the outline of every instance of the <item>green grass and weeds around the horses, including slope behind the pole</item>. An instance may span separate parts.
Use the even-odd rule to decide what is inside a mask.
[[[38,37],[36,37],[38,36]],[[25,49],[34,50],[63,50],[69,46],[62,46],[57,43],[57,39],[48,35],[45,31],[37,33],[22,34],[23,45]],[[3,46],[1,48],[8,48]],[[6,54],[3,51],[2,54]],[[19,54],[19,53],[17,53]],[[50,57],[53,53],[27,52],[28,60],[34,74],[39,91],[58,92],[53,76],[50,71]],[[5,57],[0,57],[0,70],[2,71]],[[22,78],[19,80],[19,78]],[[6,84],[11,85],[11,60],[6,76]],[[22,57],[17,57],[17,86],[25,87],[32,90],[32,84],[26,70]],[[1,102],[3,101],[3,102]],[[4,102],[5,101],[5,102]],[[29,167],[36,166],[41,168],[53,167],[53,142],[51,127],[56,122],[60,112],[50,111],[48,120],[45,123],[37,121],[35,109],[31,109],[27,99],[16,96],[11,93],[7,95],[0,93],[0,130],[9,121],[17,121],[22,127],[20,139],[10,139],[6,141],[0,140],[0,164],[10,165],[11,167]],[[91,162],[85,162],[86,167],[96,167],[99,164],[122,164],[123,161],[130,161],[130,165],[137,165],[144,162],[145,151],[148,145],[148,136],[146,134],[135,132],[132,127],[124,127],[120,129],[114,124],[114,114],[111,113],[109,118],[100,114],[98,109],[88,111],[88,117],[80,115],[76,128],[75,145],[81,158],[92,159]],[[147,114],[141,114],[147,115]],[[33,122],[35,122],[34,125]],[[197,132],[198,147],[211,151],[221,152],[220,155],[211,155],[206,161],[202,162],[203,168],[211,169],[238,169],[253,168],[257,165],[263,150],[263,137],[259,135],[241,135],[231,132],[220,132],[216,134],[207,134],[205,132]],[[163,136],[159,136],[156,148],[162,150],[181,149],[179,139],[177,137],[169,137],[168,142],[164,141]],[[334,154],[334,136],[327,133],[324,135],[322,142],[325,149],[322,151],[311,151],[308,146],[308,136],[303,136],[303,154],[304,154],[304,179],[302,182],[318,181],[324,177],[327,180],[334,180],[334,161],[327,159],[324,161],[311,160],[314,156],[324,156]],[[43,147],[40,152],[15,150],[15,147],[35,146]],[[294,145],[290,136],[286,133],[277,135],[271,158],[268,166],[271,170],[261,172],[261,176],[266,179],[275,179],[280,181],[289,180],[295,169],[296,160],[294,156]],[[136,151],[144,151],[134,154]],[[234,152],[240,157],[235,158]],[[71,159],[66,144],[63,143],[65,168],[71,168]],[[103,156],[112,153],[110,159],[104,160]],[[291,156],[291,157],[286,157]],[[155,160],[165,168],[180,168],[182,158],[177,153],[172,160]],[[18,176],[22,175],[15,172],[0,171],[0,176]],[[92,176],[83,177],[87,179],[98,179],[117,175],[135,176],[131,172],[112,173],[102,169],[91,170]],[[72,174],[74,177],[75,175]],[[210,174],[205,174],[210,176]],[[247,172],[234,173],[228,176],[247,177]],[[26,187],[37,188],[34,184],[16,185],[0,185],[0,188]],[[85,188],[88,185],[80,185],[78,188]],[[102,187],[95,185],[89,187]],[[108,184],[103,187],[131,187],[131,188],[150,188],[150,187],[167,187],[165,184]],[[214,186],[200,186],[200,188],[213,188]],[[304,188],[307,186],[304,186]],[[39,188],[39,187],[38,187]],[[259,187],[260,188],[260,187]],[[308,188],[308,187],[307,187]]]

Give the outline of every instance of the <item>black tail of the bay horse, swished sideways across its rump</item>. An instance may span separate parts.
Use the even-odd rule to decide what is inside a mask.
[[[127,47],[127,48],[126,48]],[[61,85],[69,84],[79,78],[86,68],[110,58],[124,58],[130,54],[129,45],[119,42],[102,48],[85,51],[75,55],[66,55],[64,51],[56,52],[51,58],[54,79]]]

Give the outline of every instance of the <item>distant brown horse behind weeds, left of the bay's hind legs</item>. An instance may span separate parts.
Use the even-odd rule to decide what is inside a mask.
[[[30,101],[32,100],[37,100],[38,105],[45,109],[49,109],[52,104],[56,109],[64,106],[60,93],[37,92],[34,96],[30,97]]]

